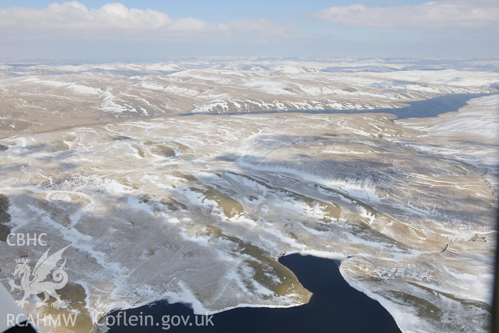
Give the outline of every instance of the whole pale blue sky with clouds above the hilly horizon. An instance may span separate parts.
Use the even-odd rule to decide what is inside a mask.
[[[2,0],[0,58],[498,56],[498,0]]]

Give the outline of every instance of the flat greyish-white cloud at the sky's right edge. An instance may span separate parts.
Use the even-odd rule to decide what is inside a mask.
[[[372,27],[492,27],[499,23],[497,1],[426,2],[423,4],[366,7],[363,4],[335,6],[312,12],[312,17],[350,26]],[[490,5],[489,5],[490,3]]]

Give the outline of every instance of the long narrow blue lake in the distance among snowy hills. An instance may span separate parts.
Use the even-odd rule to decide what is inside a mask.
[[[436,117],[439,114],[453,112],[467,105],[467,101],[472,98],[483,97],[497,94],[494,93],[465,93],[465,94],[449,94],[435,98],[429,98],[414,102],[401,102],[410,104],[406,107],[394,107],[384,109],[370,110],[278,110],[278,111],[251,111],[251,112],[225,112],[225,113],[201,113],[189,112],[183,113],[182,116],[195,114],[212,114],[212,115],[236,115],[236,114],[265,114],[265,113],[391,113],[397,116],[398,119],[405,118],[429,118]]]

